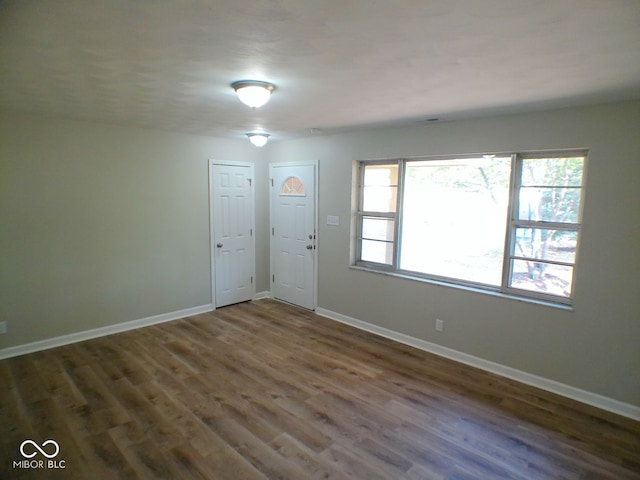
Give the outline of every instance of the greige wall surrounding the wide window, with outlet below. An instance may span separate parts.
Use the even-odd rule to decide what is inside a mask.
[[[320,307],[640,406],[639,125],[634,102],[280,142],[267,154],[320,161]],[[353,160],[559,148],[589,149],[573,311],[349,268]]]

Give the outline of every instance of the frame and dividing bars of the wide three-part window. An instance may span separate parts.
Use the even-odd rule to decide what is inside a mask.
[[[511,172],[509,178],[509,203],[507,206],[507,219],[505,229],[505,241],[503,244],[503,262],[501,272],[501,284],[499,286],[490,285],[481,282],[474,282],[470,280],[462,280],[455,277],[447,277],[436,274],[429,274],[424,272],[416,272],[411,270],[403,270],[399,268],[401,245],[402,245],[402,221],[403,221],[403,203],[404,203],[404,183],[406,166],[412,161],[437,161],[437,160],[456,160],[465,158],[479,158],[483,156],[500,156],[511,157]],[[522,188],[522,166],[524,160],[536,159],[536,158],[564,158],[564,157],[582,157],[582,181],[578,186],[570,186],[569,188],[577,188],[580,191],[579,205],[577,211],[577,218],[575,223],[567,222],[549,222],[542,220],[520,220],[519,219],[519,207],[520,207],[520,192]],[[584,211],[584,197],[585,197],[585,183],[586,183],[586,171],[587,171],[588,150],[586,149],[570,149],[570,150],[552,150],[552,151],[534,151],[534,152],[491,152],[481,154],[464,154],[464,155],[437,155],[437,156],[421,156],[421,157],[404,157],[404,158],[390,158],[390,159],[376,159],[376,160],[358,160],[355,162],[357,171],[357,184],[358,193],[355,196],[357,202],[354,209],[355,217],[355,245],[354,245],[354,260],[352,266],[356,268],[362,268],[369,271],[391,274],[400,276],[403,278],[410,278],[419,281],[427,281],[438,284],[444,284],[454,287],[470,288],[474,291],[480,291],[484,293],[502,294],[510,298],[538,301],[545,304],[551,304],[556,306],[570,307],[573,305],[573,297],[575,294],[575,279],[576,269],[578,266],[578,251],[581,243],[581,230],[582,230],[582,215]],[[364,175],[365,168],[369,165],[397,165],[398,166],[398,182],[397,182],[397,196],[396,196],[396,211],[395,212],[372,212],[362,209],[364,205]],[[363,240],[363,220],[365,218],[384,218],[391,219],[394,223],[393,240],[390,242],[393,245],[393,255],[391,264],[377,263],[367,260],[362,260],[362,240]],[[535,229],[553,229],[562,231],[576,232],[576,252],[574,255],[573,263],[561,262],[555,260],[544,260],[544,263],[550,265],[570,266],[572,271],[571,276],[571,294],[568,297],[561,295],[548,294],[544,292],[538,292],[533,290],[526,290],[522,288],[516,288],[511,286],[514,262],[513,260],[531,260],[528,257],[517,255],[516,252],[516,232],[518,228],[535,228]],[[367,240],[364,238],[364,240]]]

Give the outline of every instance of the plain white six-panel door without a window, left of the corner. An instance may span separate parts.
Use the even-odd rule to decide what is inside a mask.
[[[252,184],[253,165],[209,162],[214,308],[255,294]]]

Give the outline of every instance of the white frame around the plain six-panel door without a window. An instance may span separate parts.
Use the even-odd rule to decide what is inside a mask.
[[[253,257],[253,263],[251,265],[251,299],[256,296],[256,214],[255,214],[255,164],[250,162],[231,162],[224,160],[209,159],[209,257],[210,257],[210,274],[211,274],[211,307],[212,310],[217,308],[216,305],[216,260],[215,260],[215,222],[213,218],[213,182],[211,181],[211,175],[214,165],[227,165],[230,167],[249,167],[249,173],[251,175],[251,198],[249,204],[251,205],[251,255]]]

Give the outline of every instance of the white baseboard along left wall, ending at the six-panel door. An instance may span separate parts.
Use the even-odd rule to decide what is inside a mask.
[[[160,315],[154,315],[152,317],[131,320],[129,322],[116,323],[115,325],[109,325],[106,327],[99,327],[82,332],[70,333],[68,335],[62,335],[60,337],[38,340],[37,342],[25,343],[24,345],[17,345],[15,347],[2,348],[0,349],[0,360],[3,360],[5,358],[17,357],[18,355],[24,355],[26,353],[39,352],[40,350],[47,350],[49,348],[61,347],[63,345],[69,345],[70,343],[83,342],[85,340],[91,340],[92,338],[105,337],[114,333],[126,332],[128,330],[148,327],[150,325],[156,325],[158,323],[170,322],[172,320],[178,320],[180,318],[210,312],[212,310],[213,305],[211,304],[201,305],[199,307],[192,307],[185,310],[163,313]]]

